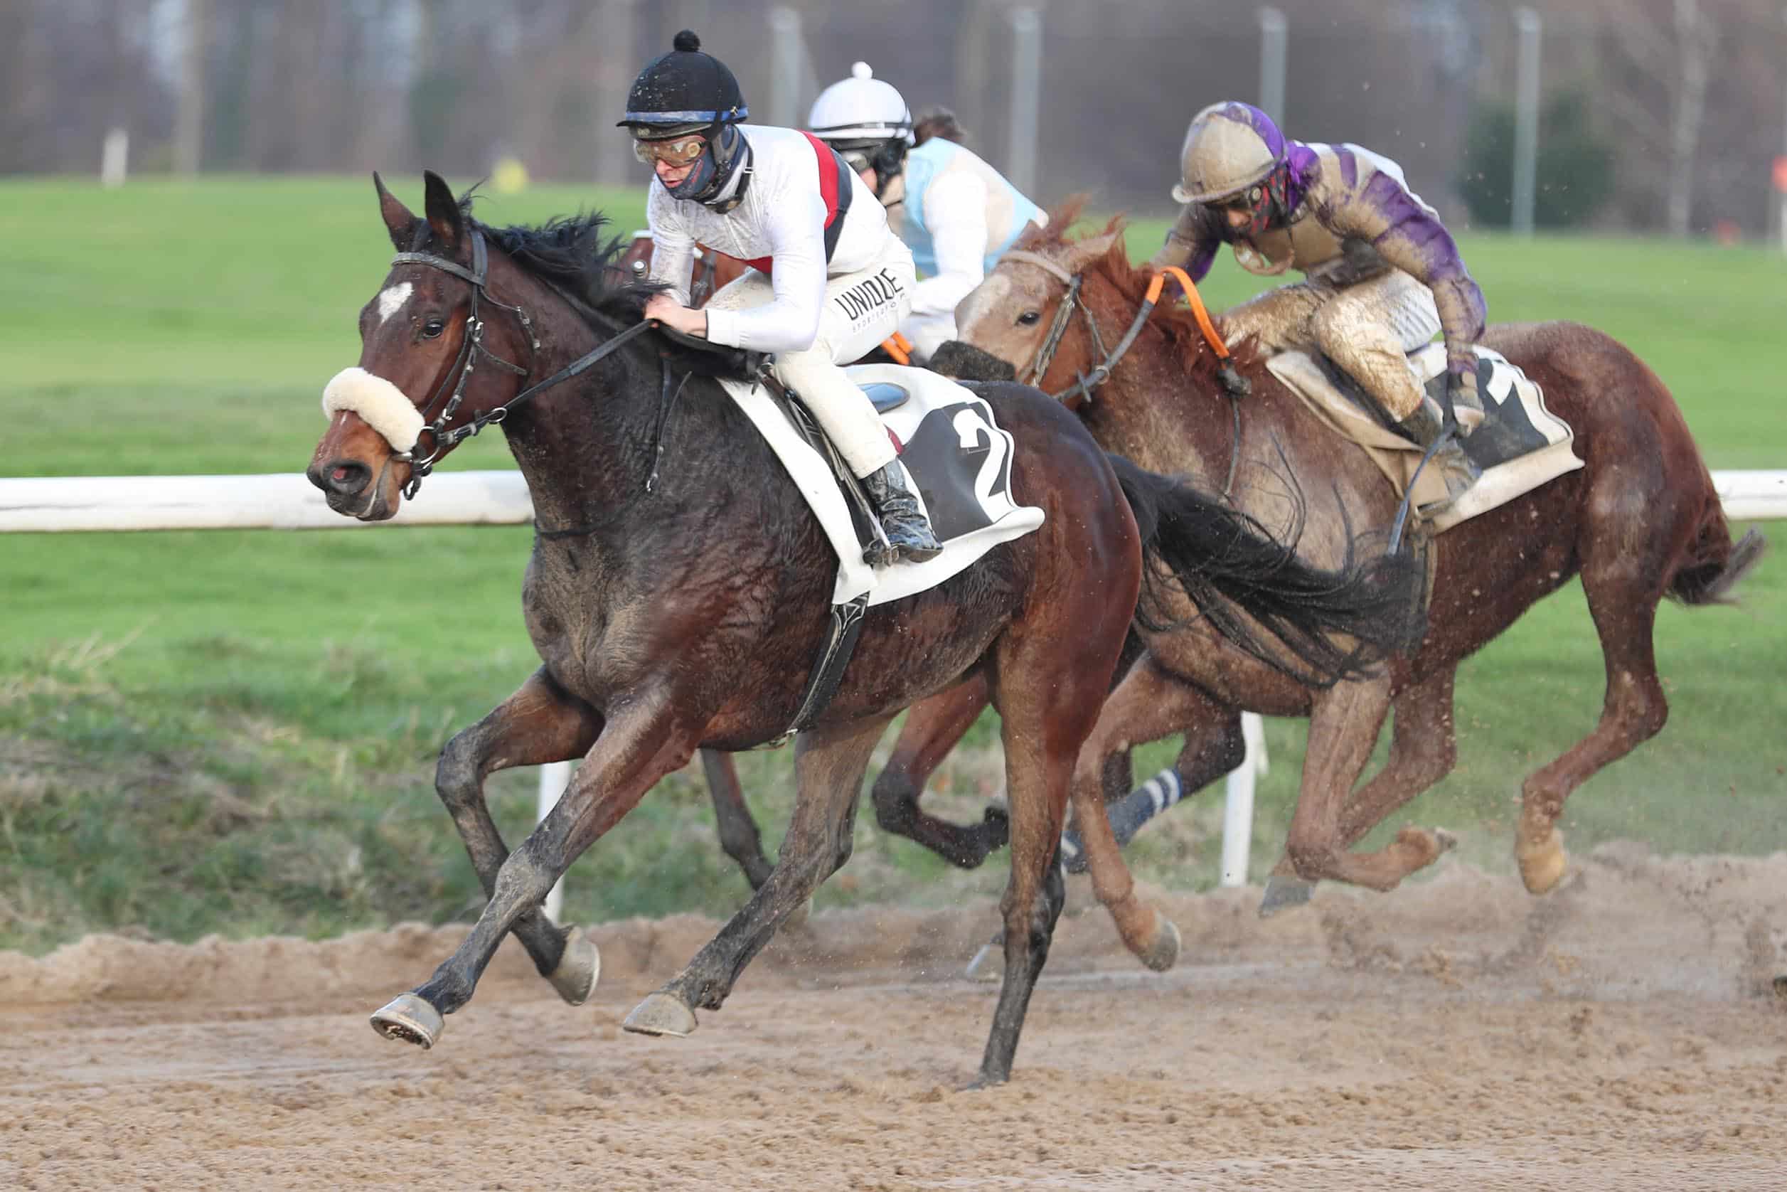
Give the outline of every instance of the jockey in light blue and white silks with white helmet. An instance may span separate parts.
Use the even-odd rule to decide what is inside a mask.
[[[1049,216],[956,141],[915,138],[906,100],[867,63],[820,93],[808,130],[861,175],[911,248],[922,281],[901,332],[911,340],[915,361],[927,361],[956,338],[956,304],[1026,227]]]

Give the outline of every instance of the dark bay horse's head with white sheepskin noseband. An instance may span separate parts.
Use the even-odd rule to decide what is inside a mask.
[[[488,256],[440,175],[424,177],[424,218],[372,179],[397,257],[359,311],[359,365],[323,390],[329,429],[306,470],[331,509],[363,522],[393,516],[447,452],[499,422],[540,348],[522,307],[486,288],[515,293],[520,270]]]

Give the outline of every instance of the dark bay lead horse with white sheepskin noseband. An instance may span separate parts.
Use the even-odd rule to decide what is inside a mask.
[[[397,256],[359,313],[361,357],[323,395],[307,475],[345,516],[382,520],[459,441],[502,425],[534,504],[522,604],[541,667],[441,751],[436,792],[490,901],[450,958],[372,1015],[431,1047],[504,935],[570,1003],[599,956],[541,899],[565,869],[699,747],[781,736],[829,638],[835,554],[792,479],[697,354],[640,322],[650,286],[613,288],[600,214],[493,229],[434,173],[415,216],[373,175]],[[672,379],[681,375],[681,381]],[[668,399],[672,388],[681,402]],[[944,584],[867,609],[836,695],[795,742],[797,801],[767,881],[683,972],[625,1019],[688,1035],[718,1010],[786,915],[851,854],[870,751],[924,695],[985,676],[1003,717],[1011,876],[1001,901],[1004,985],[979,1083],[1004,1081],[1065,897],[1053,865],[1079,747],[1138,615],[1233,599],[1308,640],[1310,665],[1351,672],[1408,633],[1414,568],[1374,558],[1321,570],[1221,502],[1104,454],[1072,413],[1028,386],[977,393],[1013,438],[1013,488],[1047,520]],[[674,409],[674,416],[668,416]],[[661,468],[659,468],[661,447]],[[1144,572],[1144,567],[1147,568]],[[1249,625],[1224,617],[1242,640]],[[1358,642],[1328,643],[1330,633]],[[1338,651],[1338,654],[1337,654]],[[484,804],[488,774],[583,756],[513,852]],[[1076,808],[1095,833],[1103,804]],[[1104,847],[1108,845],[1108,847]],[[1156,969],[1178,931],[1137,899],[1104,836],[1094,881],[1129,949]]]

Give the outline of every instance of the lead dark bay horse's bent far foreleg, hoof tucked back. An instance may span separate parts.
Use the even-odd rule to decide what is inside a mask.
[[[602,718],[593,708],[559,688],[545,668],[536,670],[515,695],[506,699],[488,717],[456,735],[441,749],[434,768],[434,792],[452,815],[472,869],[490,897],[497,888],[497,872],[509,856],[490,806],[484,802],[484,779],[518,765],[545,765],[579,758],[597,733]],[[595,947],[572,929],[559,931],[540,908],[527,908],[515,922],[515,936],[527,949],[540,976],[552,981],[559,997],[574,1006],[583,1004],[595,986]],[[572,954],[566,956],[566,942]]]

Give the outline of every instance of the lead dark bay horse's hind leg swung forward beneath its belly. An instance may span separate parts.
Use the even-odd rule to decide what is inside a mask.
[[[863,774],[892,718],[824,726],[795,738],[799,793],[768,881],[683,972],[627,1015],[625,1029],[677,1037],[693,1031],[695,1010],[718,1010],[783,920],[849,860]]]

